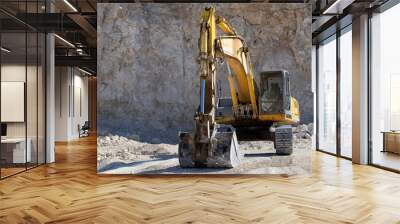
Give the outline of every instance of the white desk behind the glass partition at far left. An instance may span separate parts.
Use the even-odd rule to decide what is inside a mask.
[[[25,144],[27,144],[28,147],[26,147],[26,153],[25,153]],[[31,139],[27,139],[25,143],[25,138],[5,138],[1,139],[1,147],[2,147],[2,152],[10,150],[9,147],[12,147],[12,163],[25,163],[25,162],[31,162],[32,160],[32,154],[31,154],[31,145],[32,141]],[[3,147],[6,147],[4,149]],[[26,159],[26,160],[25,160]]]

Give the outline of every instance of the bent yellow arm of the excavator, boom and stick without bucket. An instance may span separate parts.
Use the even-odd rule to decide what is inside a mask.
[[[237,35],[235,29],[225,18],[216,16],[214,8],[206,8],[201,18],[199,39],[200,113],[208,114],[210,122],[214,122],[215,62],[219,57],[225,60],[229,66],[228,82],[233,108],[237,113],[249,111],[250,116],[256,118],[257,99],[254,75],[245,41]],[[223,32],[223,36],[217,37],[217,27]]]

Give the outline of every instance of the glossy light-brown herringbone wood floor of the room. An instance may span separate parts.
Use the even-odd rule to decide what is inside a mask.
[[[96,140],[0,181],[0,223],[400,223],[400,175],[315,152],[310,176],[100,176]]]

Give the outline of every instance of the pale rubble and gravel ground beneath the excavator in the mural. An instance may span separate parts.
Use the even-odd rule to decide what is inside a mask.
[[[310,126],[294,128],[294,149],[290,156],[275,155],[271,141],[240,141],[241,164],[231,169],[180,168],[178,145],[100,136],[97,168],[101,174],[304,174],[311,172],[312,131],[309,130]]]

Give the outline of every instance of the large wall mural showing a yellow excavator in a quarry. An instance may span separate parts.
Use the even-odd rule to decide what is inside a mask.
[[[311,5],[98,4],[98,172],[311,170]]]

